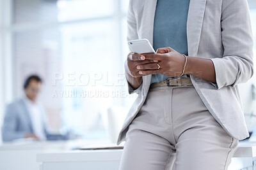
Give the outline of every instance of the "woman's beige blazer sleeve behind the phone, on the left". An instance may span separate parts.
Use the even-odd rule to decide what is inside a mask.
[[[136,24],[136,18],[134,15],[134,11],[133,11],[132,2],[133,2],[133,0],[130,0],[129,8],[127,11],[127,41],[130,41],[132,39],[138,39],[137,24]],[[137,89],[133,89],[128,81],[127,81],[127,84],[128,84],[129,94],[133,94],[133,93],[139,94],[140,93],[140,90],[142,88],[142,83],[141,83],[140,87],[138,87]]]

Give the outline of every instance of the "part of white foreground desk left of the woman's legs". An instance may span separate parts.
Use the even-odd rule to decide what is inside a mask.
[[[118,169],[123,150],[84,150],[38,154],[42,170],[114,170]]]

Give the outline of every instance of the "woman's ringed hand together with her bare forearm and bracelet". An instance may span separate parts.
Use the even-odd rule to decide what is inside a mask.
[[[162,74],[163,76],[180,76],[186,62],[185,57],[170,47],[157,49],[157,53],[143,53],[145,60],[158,60],[156,63],[139,64],[139,74]],[[157,64],[159,64],[159,69]],[[184,74],[190,74],[206,81],[216,83],[214,64],[211,59],[187,56]]]

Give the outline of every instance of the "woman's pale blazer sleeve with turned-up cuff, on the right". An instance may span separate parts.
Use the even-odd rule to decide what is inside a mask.
[[[211,59],[216,89],[244,83],[253,75],[253,36],[246,0],[223,0],[221,36],[223,57]]]

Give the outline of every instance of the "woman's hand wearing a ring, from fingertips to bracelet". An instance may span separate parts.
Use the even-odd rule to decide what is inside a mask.
[[[158,60],[156,63],[141,64],[137,66],[139,73],[162,74],[163,76],[179,76],[185,64],[185,57],[170,47],[158,48],[157,53],[143,53],[145,59]],[[159,64],[159,66],[157,65]],[[159,69],[157,69],[159,67]]]

